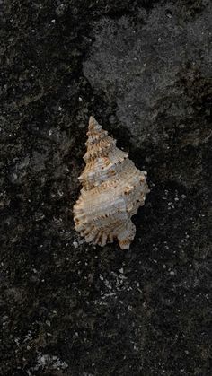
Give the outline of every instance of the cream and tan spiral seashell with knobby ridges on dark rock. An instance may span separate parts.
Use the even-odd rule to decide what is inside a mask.
[[[136,233],[131,216],[149,192],[146,172],[137,170],[93,117],[87,136],[86,165],[78,178],[83,188],[74,206],[75,230],[86,242],[104,246],[117,239],[121,249],[129,249]]]

